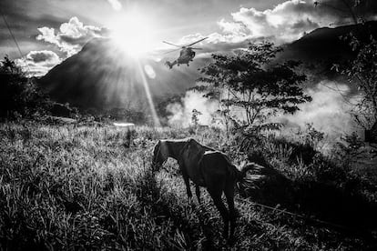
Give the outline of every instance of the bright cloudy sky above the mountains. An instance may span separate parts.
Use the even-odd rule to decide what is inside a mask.
[[[350,20],[341,0],[1,0],[0,55],[20,58],[10,26],[27,64],[36,75],[75,55],[93,37],[114,35],[133,53],[171,49],[209,38],[199,45],[229,50],[248,39],[277,44],[298,39],[320,26]],[[363,6],[375,19],[377,1]],[[374,3],[373,3],[374,2]]]

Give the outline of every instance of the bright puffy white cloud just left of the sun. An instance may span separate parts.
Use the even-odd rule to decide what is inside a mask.
[[[42,40],[56,45],[67,56],[76,54],[83,45],[94,37],[100,37],[107,31],[93,25],[84,25],[76,16],[69,19],[67,23],[60,25],[56,32],[54,28],[39,27],[39,35],[36,40]]]

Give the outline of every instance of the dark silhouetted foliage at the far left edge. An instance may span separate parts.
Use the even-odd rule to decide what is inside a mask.
[[[0,117],[16,118],[45,113],[46,97],[21,67],[5,56],[0,61]]]

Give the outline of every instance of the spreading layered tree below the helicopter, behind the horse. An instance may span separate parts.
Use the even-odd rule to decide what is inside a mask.
[[[306,76],[296,72],[298,62],[272,64],[280,51],[263,42],[250,44],[235,55],[212,55],[213,62],[200,70],[203,85],[194,89],[217,99],[220,113],[241,127],[275,127],[267,122],[272,115],[293,114],[298,105],[311,101],[302,91]]]

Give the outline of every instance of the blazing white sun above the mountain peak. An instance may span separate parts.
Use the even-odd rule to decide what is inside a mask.
[[[147,16],[136,12],[117,16],[110,30],[111,38],[127,55],[138,58],[152,50],[154,29]]]

